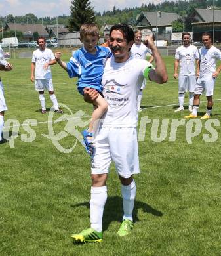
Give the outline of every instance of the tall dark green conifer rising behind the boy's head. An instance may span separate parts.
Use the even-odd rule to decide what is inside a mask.
[[[68,29],[70,31],[79,30],[81,24],[85,22],[95,22],[94,8],[90,7],[90,0],[72,0],[71,18]]]

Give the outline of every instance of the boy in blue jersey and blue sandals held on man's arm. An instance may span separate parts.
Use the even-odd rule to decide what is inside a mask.
[[[94,154],[93,146],[93,125],[96,120],[108,110],[108,103],[102,97],[102,75],[104,72],[104,62],[111,56],[109,48],[97,45],[99,40],[99,29],[96,24],[85,23],[80,28],[80,40],[83,47],[78,49],[70,58],[68,63],[61,60],[60,52],[55,53],[58,64],[68,72],[69,77],[78,77],[77,90],[83,95],[83,89],[90,87],[96,89],[100,95],[92,103],[94,112],[89,123],[89,128],[83,131],[83,138],[87,152],[92,156]]]

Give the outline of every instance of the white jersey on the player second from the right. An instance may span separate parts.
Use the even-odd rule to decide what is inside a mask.
[[[175,59],[180,61],[180,75],[195,75],[195,60],[199,59],[197,47],[181,45],[176,49]]]

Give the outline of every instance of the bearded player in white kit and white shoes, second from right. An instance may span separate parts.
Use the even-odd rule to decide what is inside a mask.
[[[193,98],[196,83],[195,62],[199,59],[197,47],[190,44],[190,33],[182,33],[183,45],[176,49],[174,62],[174,75],[178,78],[178,100],[179,107],[175,110],[184,110],[184,94],[189,91],[189,111],[193,110]],[[178,75],[178,66],[180,65],[180,72]]]

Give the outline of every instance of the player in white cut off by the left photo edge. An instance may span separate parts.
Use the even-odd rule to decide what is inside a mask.
[[[3,49],[1,49],[1,46],[0,46],[0,70],[4,70],[4,71],[12,70],[12,64],[10,64],[5,60]],[[7,142],[7,140],[3,138],[4,115],[6,110],[8,110],[8,108],[5,103],[4,88],[3,88],[3,83],[1,82],[1,77],[0,77],[0,144]]]

